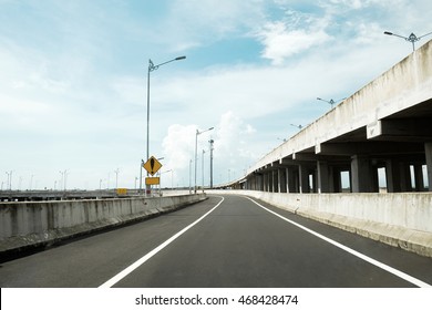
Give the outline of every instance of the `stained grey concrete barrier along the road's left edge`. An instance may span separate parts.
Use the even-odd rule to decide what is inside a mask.
[[[204,199],[205,194],[0,203],[0,255],[143,220]]]

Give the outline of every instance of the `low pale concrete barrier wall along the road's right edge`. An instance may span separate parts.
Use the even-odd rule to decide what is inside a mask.
[[[246,195],[304,217],[432,257],[432,193],[286,194],[207,190]]]

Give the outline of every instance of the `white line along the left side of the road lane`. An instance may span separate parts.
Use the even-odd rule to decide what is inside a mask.
[[[114,286],[116,282],[119,282],[120,280],[122,280],[124,277],[126,277],[128,273],[131,273],[132,271],[134,271],[136,268],[138,268],[141,265],[143,265],[144,262],[146,262],[148,259],[151,259],[153,256],[155,256],[158,251],[161,251],[162,249],[164,249],[167,245],[169,245],[171,242],[173,242],[175,239],[177,239],[179,236],[182,236],[184,232],[186,232],[188,229],[191,229],[192,227],[194,227],[196,224],[198,224],[203,218],[205,218],[207,215],[209,215],[214,209],[216,209],[223,202],[224,202],[224,197],[222,196],[218,196],[222,198],[222,200],[214,207],[212,208],[208,213],[206,213],[205,215],[203,215],[200,218],[198,218],[197,220],[195,220],[193,224],[191,224],[189,226],[183,228],[181,231],[178,231],[177,234],[175,234],[174,236],[172,236],[169,239],[167,239],[166,241],[164,241],[163,244],[161,244],[160,246],[157,246],[156,248],[154,248],[153,250],[151,250],[150,252],[147,252],[145,256],[143,256],[142,258],[140,258],[138,260],[136,260],[134,264],[132,264],[131,266],[128,266],[126,269],[124,269],[123,271],[119,272],[117,275],[115,275],[114,277],[112,277],[110,280],[107,280],[106,282],[104,282],[103,285],[100,286],[100,288],[111,288],[112,286]]]

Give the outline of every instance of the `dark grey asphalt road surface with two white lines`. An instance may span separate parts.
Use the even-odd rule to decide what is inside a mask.
[[[175,213],[2,262],[0,287],[432,285],[431,258],[261,202],[267,209],[246,197],[224,198],[210,196]]]

